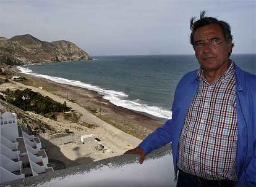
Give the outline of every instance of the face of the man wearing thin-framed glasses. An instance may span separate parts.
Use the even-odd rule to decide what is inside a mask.
[[[232,50],[232,40],[226,42],[217,24],[198,28],[194,34],[194,49],[204,71],[224,71],[228,68],[228,53]]]

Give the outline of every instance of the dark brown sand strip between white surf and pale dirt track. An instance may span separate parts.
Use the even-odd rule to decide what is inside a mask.
[[[147,113],[116,106],[94,90],[61,84],[49,79],[20,73],[16,66],[12,67],[12,71],[14,72],[11,75],[18,75],[27,79],[27,81],[20,81],[22,84],[37,88],[43,87],[43,89],[51,94],[66,98],[67,103],[71,99],[73,103],[79,104],[101,120],[140,140],[143,140],[149,133],[163,125],[163,122],[166,121],[166,119],[151,116]]]

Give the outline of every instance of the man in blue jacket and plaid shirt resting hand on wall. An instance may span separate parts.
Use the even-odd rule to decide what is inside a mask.
[[[191,19],[190,43],[200,64],[176,88],[171,120],[126,154],[172,142],[177,186],[256,186],[256,76],[229,60],[228,23]]]

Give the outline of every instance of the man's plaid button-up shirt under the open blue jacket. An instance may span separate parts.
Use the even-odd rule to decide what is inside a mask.
[[[236,76],[234,63],[213,84],[200,84],[179,138],[177,167],[207,180],[237,180]]]

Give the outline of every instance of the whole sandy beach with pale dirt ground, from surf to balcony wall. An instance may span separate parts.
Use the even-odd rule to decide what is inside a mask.
[[[21,76],[25,80],[10,80],[14,75]],[[46,148],[49,158],[63,161],[67,166],[86,164],[123,154],[127,149],[137,146],[143,138],[163,124],[163,122],[151,119],[143,114],[115,106],[92,90],[58,84],[48,79],[36,78],[17,72],[7,76],[0,76],[0,78],[9,79],[9,82],[0,84],[0,92],[7,88],[28,88],[34,92],[39,92],[41,95],[48,96],[59,103],[66,101],[67,106],[72,108],[72,112],[79,116],[78,121],[68,121],[61,117],[61,115],[57,120],[53,120],[40,114],[27,113],[48,124],[55,132],[63,133],[69,129],[70,132],[77,135],[92,133],[100,139],[100,143],[106,148],[106,151],[95,151],[93,149],[95,143],[90,145],[70,144],[50,149]],[[43,89],[39,87],[43,87]],[[74,149],[76,154],[72,151]]]

